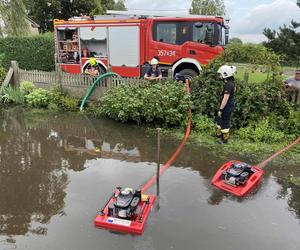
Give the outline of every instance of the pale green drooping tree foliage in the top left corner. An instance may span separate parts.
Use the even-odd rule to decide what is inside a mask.
[[[23,0],[0,1],[1,20],[0,36],[24,36],[29,33]]]

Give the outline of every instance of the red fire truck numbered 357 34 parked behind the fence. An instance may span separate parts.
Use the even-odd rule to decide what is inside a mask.
[[[201,65],[220,55],[228,40],[222,17],[150,17],[126,14],[54,20],[56,63],[69,73],[83,73],[94,57],[101,73],[143,77],[158,57],[163,76],[193,77]]]

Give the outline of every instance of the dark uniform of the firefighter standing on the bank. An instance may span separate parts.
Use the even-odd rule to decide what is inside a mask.
[[[229,138],[229,129],[230,129],[230,117],[234,109],[234,92],[235,84],[233,80],[228,80],[225,82],[223,92],[221,95],[221,102],[225,94],[229,95],[227,104],[224,109],[221,110],[222,115],[216,119],[216,135],[222,139],[222,142],[227,143]]]

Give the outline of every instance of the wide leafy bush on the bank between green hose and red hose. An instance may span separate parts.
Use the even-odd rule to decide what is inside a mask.
[[[93,114],[103,114],[121,122],[176,126],[185,120],[189,105],[189,95],[182,83],[121,85],[101,98]]]

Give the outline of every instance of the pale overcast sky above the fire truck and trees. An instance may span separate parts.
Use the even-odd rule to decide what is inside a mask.
[[[125,0],[128,10],[155,10],[188,13],[191,0]],[[278,29],[291,20],[300,22],[300,8],[296,0],[225,0],[230,18],[230,36],[244,42],[261,42],[265,27]]]

